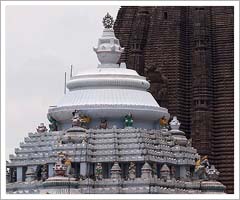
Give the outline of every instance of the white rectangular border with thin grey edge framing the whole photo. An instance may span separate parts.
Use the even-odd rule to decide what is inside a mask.
[[[234,194],[6,194],[5,8],[10,5],[234,6]],[[1,1],[1,198],[4,199],[238,199],[239,198],[239,2],[238,1]]]

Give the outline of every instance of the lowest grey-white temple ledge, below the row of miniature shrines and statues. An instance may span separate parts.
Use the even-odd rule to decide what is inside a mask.
[[[118,167],[117,167],[118,168]],[[149,169],[149,166],[146,168]],[[119,169],[118,169],[119,170]],[[179,180],[161,180],[160,178],[135,178],[134,180],[119,180],[114,179],[102,179],[92,180],[85,179],[81,181],[75,181],[73,178],[68,177],[51,177],[45,182],[32,181],[31,183],[10,183],[7,184],[8,193],[18,191],[17,193],[23,193],[23,191],[29,191],[33,193],[33,190],[37,193],[44,193],[47,190],[59,190],[60,188],[69,188],[70,193],[76,189],[78,193],[169,193],[169,194],[199,194],[199,193],[219,193],[222,194],[225,187],[216,181],[179,181]],[[19,192],[20,191],[20,192]],[[35,191],[35,192],[36,192]],[[72,192],[71,192],[72,191]],[[76,192],[76,191],[75,191]],[[69,193],[69,190],[63,193]]]

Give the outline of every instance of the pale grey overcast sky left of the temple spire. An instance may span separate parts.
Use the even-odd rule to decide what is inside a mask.
[[[64,73],[95,68],[93,46],[107,12],[115,19],[120,6],[7,6],[6,151],[14,153],[47,111],[64,95]]]

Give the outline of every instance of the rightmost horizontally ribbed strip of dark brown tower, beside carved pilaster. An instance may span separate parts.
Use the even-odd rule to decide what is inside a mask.
[[[233,192],[234,178],[234,18],[233,7],[212,9],[213,127],[212,162],[219,180]],[[237,84],[237,83],[236,83]],[[238,148],[238,147],[236,147]],[[222,174],[222,176],[221,176]]]

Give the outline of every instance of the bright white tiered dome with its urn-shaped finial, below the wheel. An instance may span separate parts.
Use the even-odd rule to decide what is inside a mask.
[[[119,121],[129,112],[135,120],[151,123],[163,116],[169,118],[168,110],[161,108],[147,91],[150,84],[146,78],[126,69],[123,63],[117,64],[123,48],[111,27],[105,27],[94,51],[101,64],[70,78],[69,92],[57,106],[50,107],[50,116],[62,123],[70,121],[74,110],[96,120],[111,118]]]

